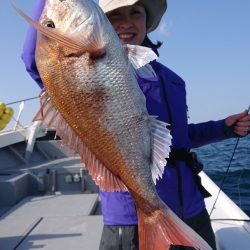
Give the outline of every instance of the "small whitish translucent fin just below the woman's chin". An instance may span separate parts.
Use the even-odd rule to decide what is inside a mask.
[[[135,70],[138,70],[150,63],[151,61],[157,59],[157,55],[151,48],[131,44],[126,44],[124,45],[124,47],[128,52],[128,59],[135,68]]]

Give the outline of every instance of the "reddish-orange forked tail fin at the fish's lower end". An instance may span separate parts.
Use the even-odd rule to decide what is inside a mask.
[[[140,250],[166,250],[171,245],[212,250],[206,241],[170,209],[164,207],[151,215],[138,209],[138,220]]]

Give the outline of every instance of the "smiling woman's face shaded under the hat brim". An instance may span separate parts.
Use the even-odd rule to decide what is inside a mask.
[[[146,36],[146,10],[141,3],[122,7],[107,13],[123,43],[141,45]]]

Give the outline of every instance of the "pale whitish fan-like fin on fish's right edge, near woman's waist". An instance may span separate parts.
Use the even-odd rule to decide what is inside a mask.
[[[166,158],[169,157],[170,145],[172,136],[167,123],[157,120],[155,117],[151,119],[151,133],[152,133],[152,163],[151,172],[154,183],[159,178],[162,178],[164,168],[167,164]]]

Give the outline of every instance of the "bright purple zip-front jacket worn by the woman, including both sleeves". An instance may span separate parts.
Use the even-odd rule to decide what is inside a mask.
[[[44,1],[37,0],[33,18],[40,17]],[[36,31],[30,27],[23,47],[22,59],[31,77],[42,88],[43,83],[35,63]],[[162,64],[152,62],[157,77],[138,79],[146,96],[149,114],[171,123],[172,148],[185,149],[199,147],[226,139],[224,120],[199,124],[187,122],[186,90],[184,81]],[[166,166],[163,178],[156,184],[161,199],[179,216],[191,218],[205,209],[204,198],[200,193],[194,175],[184,161],[177,167]],[[127,192],[100,191],[102,213],[106,225],[137,224],[134,202]]]

